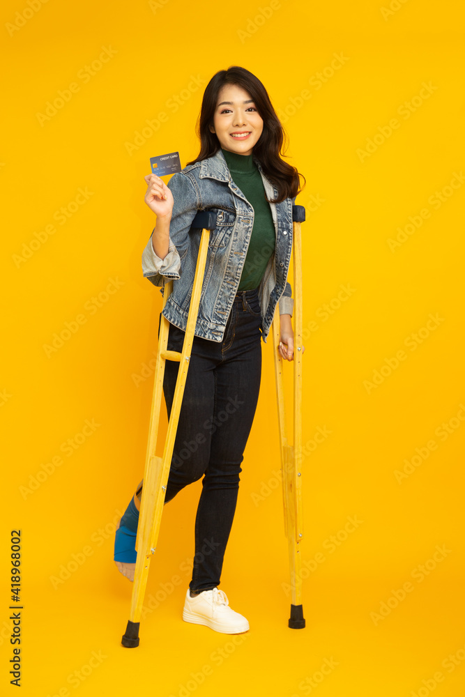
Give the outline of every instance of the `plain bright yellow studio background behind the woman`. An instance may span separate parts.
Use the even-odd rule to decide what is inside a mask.
[[[447,187],[465,169],[464,16],[450,0],[391,6],[389,14],[382,11],[387,0],[246,6],[49,0],[31,12],[25,0],[3,3],[1,694],[15,694],[6,638],[8,554],[10,530],[20,528],[23,695],[463,695],[465,423],[457,413],[465,415],[465,185]],[[22,13],[31,16],[24,20]],[[15,22],[23,26],[11,29]],[[102,47],[116,53],[84,81],[82,71]],[[346,60],[332,70],[335,54]],[[307,626],[287,627],[268,342],[221,582],[250,631],[234,645],[231,636],[181,619],[196,482],[163,514],[146,596],[159,593],[162,601],[142,620],[139,648],[126,650],[120,640],[131,585],[112,560],[114,522],[142,478],[153,374],[138,386],[133,376],[154,355],[162,301],[142,277],[154,221],[144,204],[144,175],[153,155],[178,151],[182,167],[197,155],[204,87],[234,64],[254,72],[284,114],[289,162],[307,179],[296,201],[307,209],[301,544]],[[325,70],[318,88],[315,76]],[[192,76],[200,86],[183,92]],[[41,124],[47,102],[73,82],[79,90]],[[423,83],[435,89],[419,101]],[[181,93],[175,112],[172,100]],[[409,118],[402,116],[404,102],[416,105]],[[167,121],[129,154],[126,144],[160,111]],[[393,118],[399,127],[378,136],[372,153],[360,158],[367,140],[388,133]],[[92,194],[59,224],[54,214],[79,187]],[[434,208],[430,197],[443,189],[444,201]],[[431,215],[392,252],[388,240],[425,208]],[[18,263],[23,245],[50,224],[55,232]],[[121,285],[96,307],[91,298],[109,279]],[[338,305],[342,285],[353,289],[351,296],[323,320],[321,308]],[[44,345],[79,314],[84,323],[48,357]],[[430,314],[441,321],[425,329]],[[412,339],[419,331],[421,343]],[[406,341],[416,342],[415,350]],[[383,381],[367,388],[365,381],[386,359],[395,365],[401,350],[405,360],[385,367]],[[86,420],[99,425],[68,456],[61,445]],[[447,437],[437,431],[443,423],[450,423]],[[330,434],[312,450],[318,428]],[[425,454],[432,440],[436,449],[398,481],[395,470],[416,448]],[[24,494],[20,487],[60,454],[63,464]],[[344,535],[348,516],[363,522]],[[331,535],[346,537],[334,551]],[[428,561],[436,546],[447,552]],[[318,552],[324,562],[310,570]],[[61,565],[76,558],[82,563],[56,585]],[[419,580],[425,564],[428,573]],[[162,584],[176,575],[182,582],[171,590],[165,585],[164,596]],[[396,602],[393,593],[400,597],[408,581],[411,591]],[[376,619],[372,613],[388,602],[390,611]],[[89,672],[83,666],[93,652],[100,659],[94,655]],[[328,664],[334,667],[315,682]],[[203,666],[208,676],[199,684]],[[197,682],[189,682],[192,673]]]

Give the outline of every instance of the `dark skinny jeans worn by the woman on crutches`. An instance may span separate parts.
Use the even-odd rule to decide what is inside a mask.
[[[181,351],[185,332],[169,325],[167,348]],[[179,364],[167,360],[168,417]],[[220,583],[242,472],[243,452],[259,397],[261,312],[258,289],[234,298],[222,342],[194,337],[165,503],[204,477],[195,519],[192,591]]]

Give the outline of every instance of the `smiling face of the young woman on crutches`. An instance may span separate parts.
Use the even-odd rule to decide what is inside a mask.
[[[261,136],[263,123],[248,92],[238,85],[222,87],[210,130],[216,133],[224,150],[238,155],[251,155],[252,148]]]

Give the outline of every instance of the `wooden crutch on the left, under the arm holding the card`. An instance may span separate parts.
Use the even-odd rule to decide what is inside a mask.
[[[206,256],[210,231],[216,227],[216,215],[213,211],[201,210],[192,221],[192,229],[201,229],[197,266],[195,267],[195,279],[192,286],[192,296],[188,313],[188,323],[185,329],[183,350],[167,351],[169,321],[161,315],[160,333],[158,337],[157,364],[155,367],[155,381],[153,385],[153,397],[151,417],[148,430],[148,443],[144,470],[144,486],[142,487],[142,500],[139,513],[139,526],[137,528],[136,549],[137,560],[132,586],[132,598],[130,608],[130,620],[125,634],[121,639],[123,646],[135,648],[139,646],[139,625],[142,614],[142,604],[148,579],[148,567],[155,553],[158,542],[158,533],[162,519],[163,505],[165,504],[165,492],[173,455],[174,440],[178,428],[179,413],[183,401],[185,378],[188,374],[190,353],[194,340],[195,325],[199,311],[201,286],[204,281]],[[173,288],[172,280],[165,283],[163,289],[163,307],[165,307],[169,294]],[[158,436],[158,424],[160,421],[160,406],[162,402],[163,377],[165,375],[165,361],[179,361],[178,377],[174,390],[173,404],[168,422],[165,449],[162,457],[155,455]]]

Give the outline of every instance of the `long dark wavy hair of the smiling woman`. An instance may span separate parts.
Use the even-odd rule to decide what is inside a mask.
[[[281,159],[287,157],[284,155],[289,142],[287,132],[277,117],[264,85],[252,72],[241,68],[241,66],[229,66],[227,70],[219,70],[208,82],[195,128],[200,140],[200,153],[195,160],[188,162],[186,167],[189,164],[211,158],[220,150],[221,146],[217,135],[212,133],[208,127],[214,125],[213,117],[218,95],[224,85],[237,85],[248,92],[263,119],[263,130],[253,148],[253,155],[259,160],[266,177],[277,189],[277,199],[266,200],[268,203],[277,204],[287,197],[294,198],[302,190],[300,189],[300,176],[303,177],[304,182],[305,177],[297,171],[296,167],[292,167],[291,164]],[[282,151],[283,143],[284,151]]]

